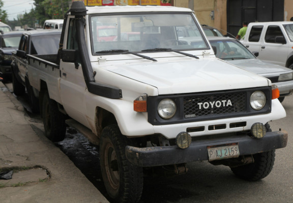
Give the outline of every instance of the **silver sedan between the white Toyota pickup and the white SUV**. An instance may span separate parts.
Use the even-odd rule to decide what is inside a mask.
[[[255,57],[242,43],[232,38],[208,37],[213,48],[216,48],[216,57],[226,60],[247,71],[266,77],[277,85],[280,90],[279,100],[293,91],[293,71],[287,67],[261,61]]]

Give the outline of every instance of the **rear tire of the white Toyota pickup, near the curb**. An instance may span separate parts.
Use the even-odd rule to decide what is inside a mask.
[[[58,110],[56,101],[46,91],[43,96],[42,117],[45,136],[52,142],[60,142],[66,136],[65,115]]]

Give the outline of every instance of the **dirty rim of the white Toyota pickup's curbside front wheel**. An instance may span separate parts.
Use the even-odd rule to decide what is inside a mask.
[[[106,146],[106,153],[104,158],[109,184],[114,190],[117,190],[119,188],[120,182],[119,167],[116,152],[111,144]]]

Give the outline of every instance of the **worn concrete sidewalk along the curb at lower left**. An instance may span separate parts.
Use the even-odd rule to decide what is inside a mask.
[[[0,82],[0,202],[106,203],[107,199],[43,134]]]

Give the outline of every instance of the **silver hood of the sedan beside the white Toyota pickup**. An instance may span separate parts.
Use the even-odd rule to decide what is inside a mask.
[[[243,69],[256,74],[283,74],[282,72],[292,71],[287,67],[283,67],[281,65],[273,63],[263,62],[259,59],[227,60],[227,62],[242,67]]]

